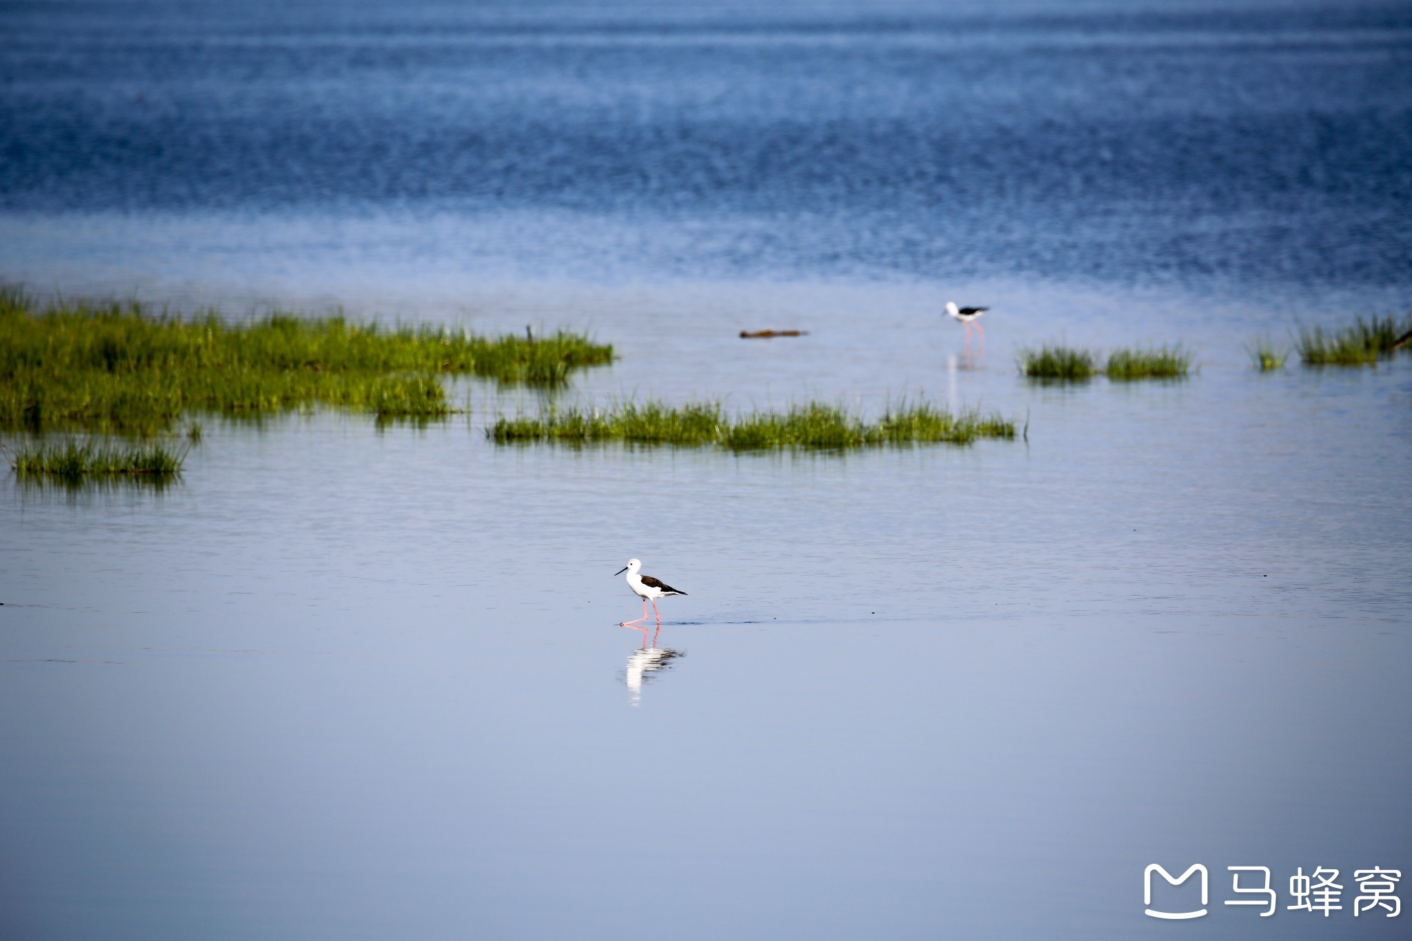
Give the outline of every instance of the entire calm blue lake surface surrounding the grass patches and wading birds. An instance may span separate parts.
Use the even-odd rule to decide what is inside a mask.
[[[1028,440],[497,447],[206,418],[0,487],[6,938],[1401,938],[1412,13],[0,6],[0,277],[586,327],[565,402],[902,396]],[[939,315],[988,303],[986,348]],[[741,329],[802,329],[744,341]],[[1015,356],[1182,341],[1183,382]],[[655,638],[630,556],[688,591]],[[1144,916],[1144,869],[1210,873]],[[1278,911],[1227,906],[1268,866]],[[1289,910],[1339,869],[1341,910]],[[1260,873],[1241,873],[1241,886]],[[1159,878],[1151,907],[1199,906]]]

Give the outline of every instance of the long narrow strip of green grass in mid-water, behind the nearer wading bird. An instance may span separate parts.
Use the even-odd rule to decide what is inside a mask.
[[[1015,422],[979,411],[952,413],[926,402],[890,408],[875,422],[837,405],[808,402],[784,412],[729,416],[716,402],[668,405],[620,402],[602,409],[548,409],[535,418],[500,416],[486,429],[498,443],[631,442],[638,444],[714,444],[730,450],[837,450],[870,444],[970,444],[980,437],[1015,437]]]

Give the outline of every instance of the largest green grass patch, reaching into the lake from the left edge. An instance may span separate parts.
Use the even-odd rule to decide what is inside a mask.
[[[38,305],[0,288],[0,430],[151,435],[188,409],[261,413],[315,403],[381,418],[446,415],[441,374],[562,382],[613,347],[558,332],[486,337],[273,313],[230,323],[130,302]]]

